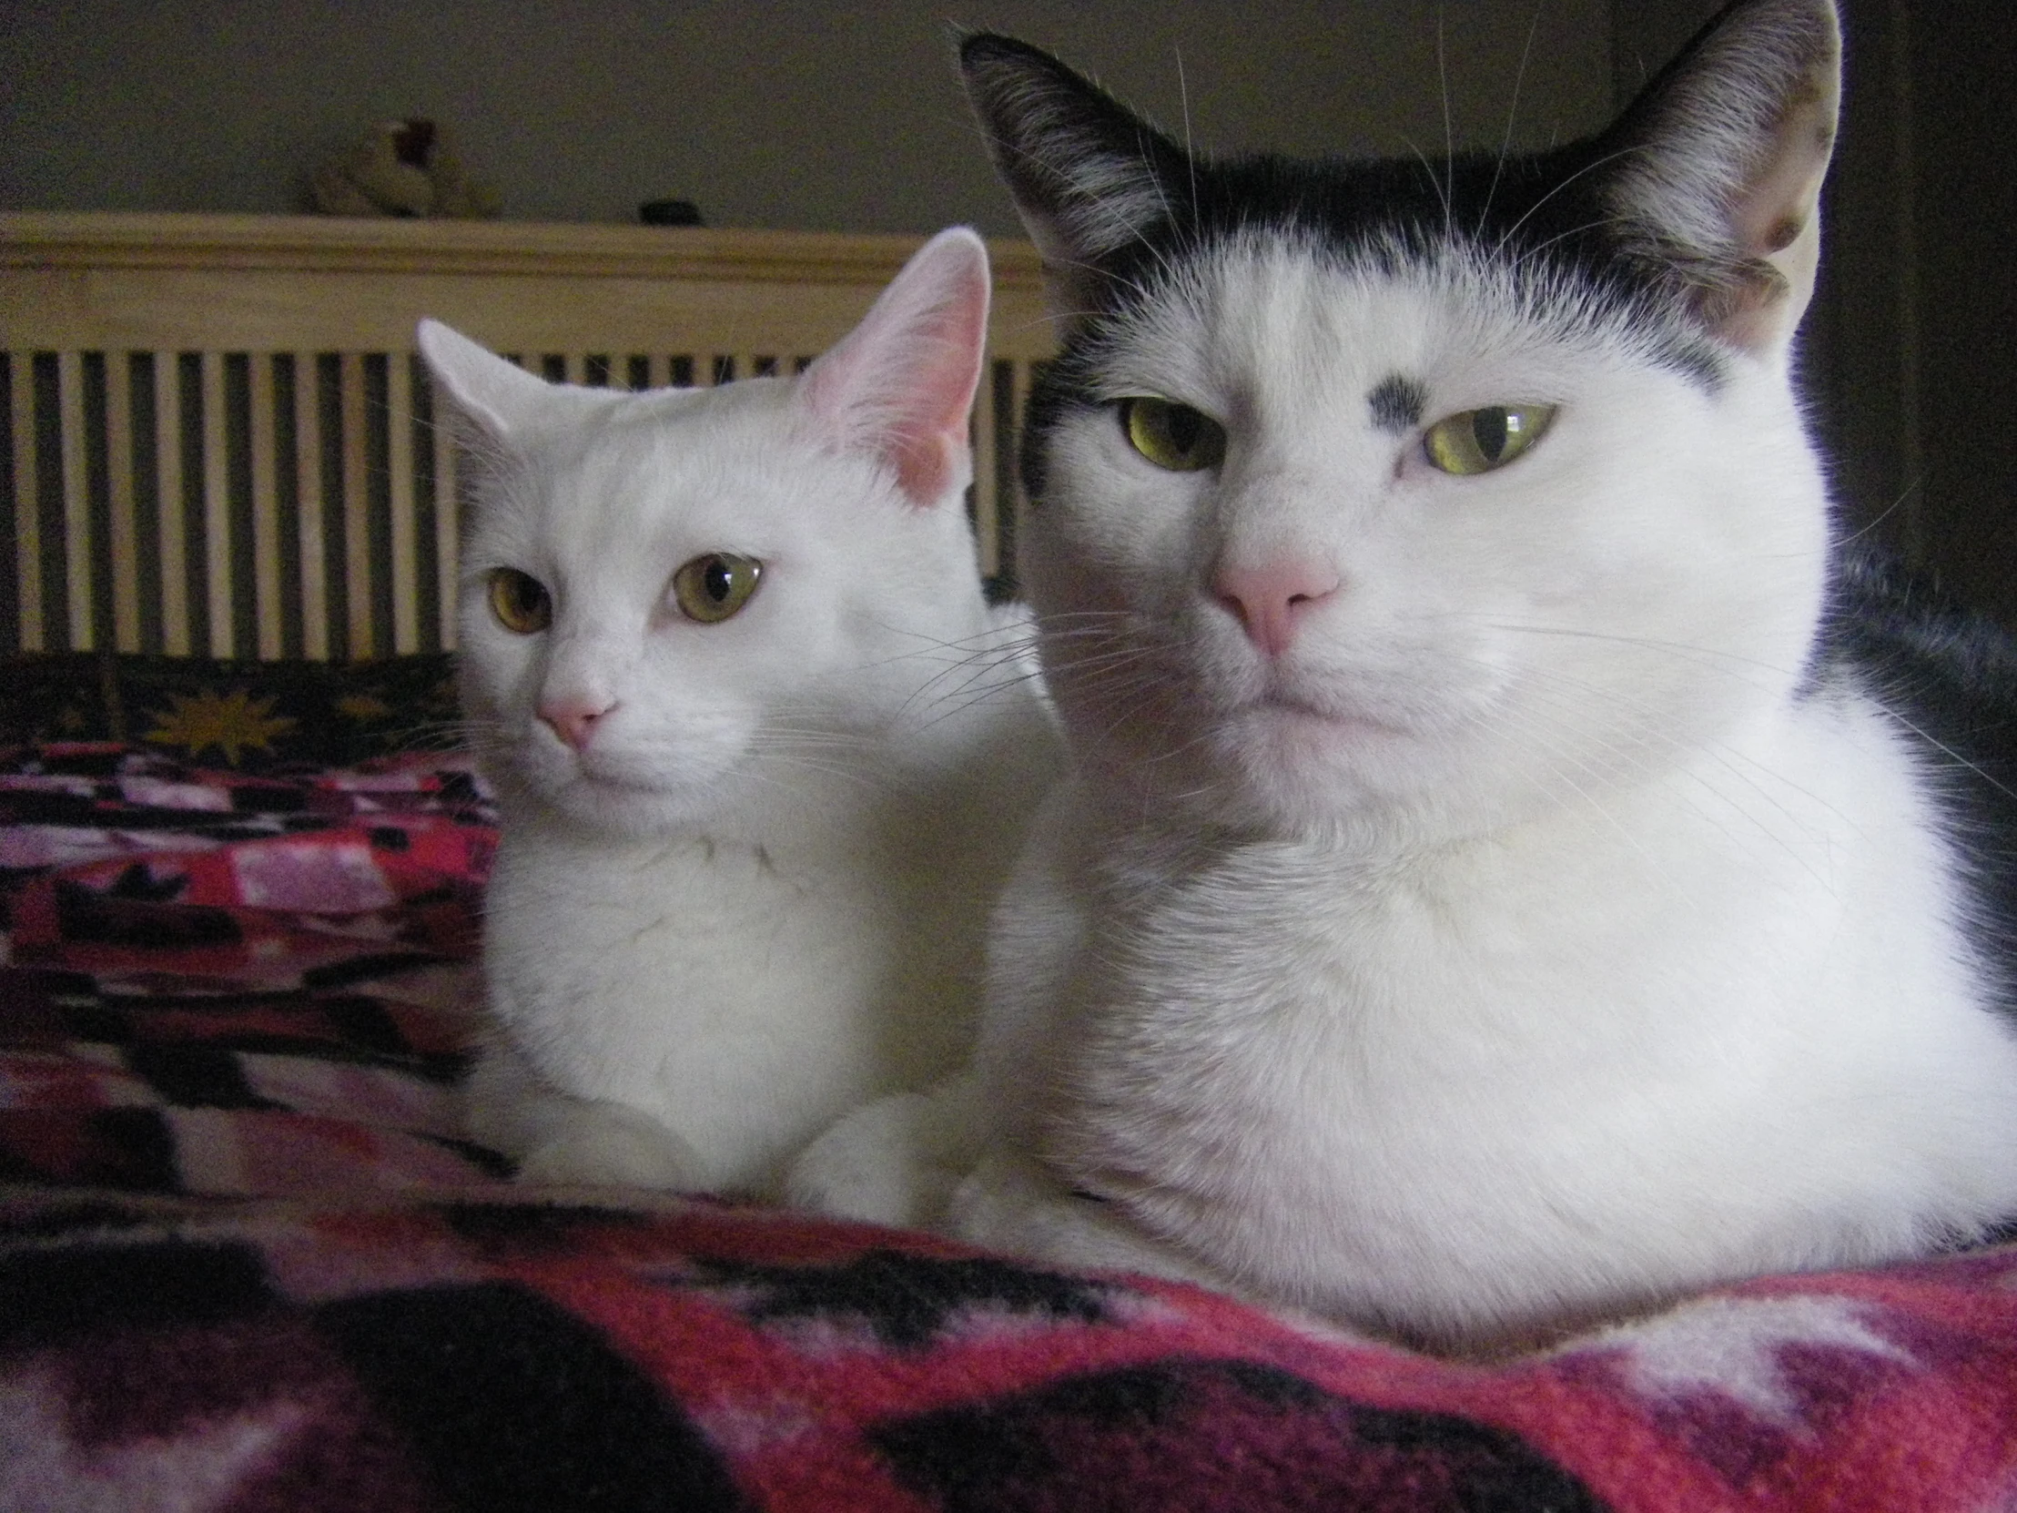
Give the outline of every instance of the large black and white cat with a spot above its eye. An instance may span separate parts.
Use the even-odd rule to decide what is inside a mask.
[[[1848,551],[1793,383],[1837,54],[1745,0],[1430,167],[964,42],[1075,775],[952,1229],[1464,1344],[2017,1212],[2017,662]]]

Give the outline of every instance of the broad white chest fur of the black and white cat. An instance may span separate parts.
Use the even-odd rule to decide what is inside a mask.
[[[1150,1233],[1434,1331],[1965,1233],[2017,1204],[2017,1041],[1904,765],[1860,706],[1751,744],[1382,857],[1156,855],[1081,795],[1097,948],[994,1065]]]

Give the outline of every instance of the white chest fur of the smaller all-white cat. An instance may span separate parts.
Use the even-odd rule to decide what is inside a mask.
[[[900,829],[930,817],[892,807],[779,845],[506,829],[492,1013],[551,1089],[660,1120],[708,1186],[760,1188],[970,1031],[986,884],[906,851]]]

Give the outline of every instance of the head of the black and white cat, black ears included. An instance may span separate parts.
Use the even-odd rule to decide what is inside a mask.
[[[1232,823],[1470,823],[1785,696],[1837,54],[1827,0],[1743,0],[1589,141],[1212,161],[966,38],[1061,317],[1023,577],[1081,759]]]

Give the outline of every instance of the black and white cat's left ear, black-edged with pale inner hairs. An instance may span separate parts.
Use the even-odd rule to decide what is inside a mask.
[[[1013,36],[968,36],[960,73],[1053,299],[1081,309],[1077,297],[1097,264],[1168,220],[1188,194],[1188,157],[1103,89]]]

